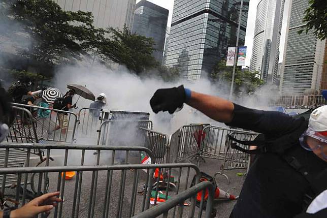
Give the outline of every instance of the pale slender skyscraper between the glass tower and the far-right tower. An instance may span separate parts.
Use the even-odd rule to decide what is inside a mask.
[[[279,42],[285,0],[261,0],[257,5],[250,71],[276,83]]]

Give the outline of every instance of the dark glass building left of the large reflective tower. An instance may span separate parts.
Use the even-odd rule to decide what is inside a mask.
[[[167,9],[146,0],[136,4],[133,33],[153,38],[155,43],[153,56],[159,63],[162,62],[164,53],[168,15]]]

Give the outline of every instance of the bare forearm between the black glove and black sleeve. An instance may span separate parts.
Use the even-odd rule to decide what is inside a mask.
[[[231,122],[234,116],[233,102],[216,96],[191,91],[191,98],[186,104],[219,122]]]

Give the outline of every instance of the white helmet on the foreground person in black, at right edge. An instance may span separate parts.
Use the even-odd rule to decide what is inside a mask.
[[[311,113],[309,128],[315,132],[327,131],[327,105],[318,107]]]

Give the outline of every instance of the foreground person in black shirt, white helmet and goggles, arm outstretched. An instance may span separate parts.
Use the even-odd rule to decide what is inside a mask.
[[[327,144],[326,141],[314,144],[316,142],[309,141],[309,137],[305,142],[310,144],[311,151],[301,147],[301,135],[308,129],[308,121],[303,117],[293,118],[280,112],[245,108],[219,97],[184,89],[183,86],[158,89],[150,100],[155,113],[174,113],[177,108],[182,108],[183,103],[229,126],[263,133],[265,140],[272,144],[282,139],[280,144],[274,144],[280,153],[259,154],[254,161],[231,217],[294,217],[306,210],[308,204],[305,202],[312,201],[306,199],[306,195],[316,191],[308,177],[320,184],[319,193],[327,189],[325,179],[316,179],[327,169],[327,158],[322,154],[327,151]],[[325,112],[323,115],[326,116]],[[327,133],[327,129],[323,131]],[[288,161],[288,157],[297,157],[297,162]],[[296,170],[295,166],[300,167]],[[316,194],[311,197],[316,197]]]

